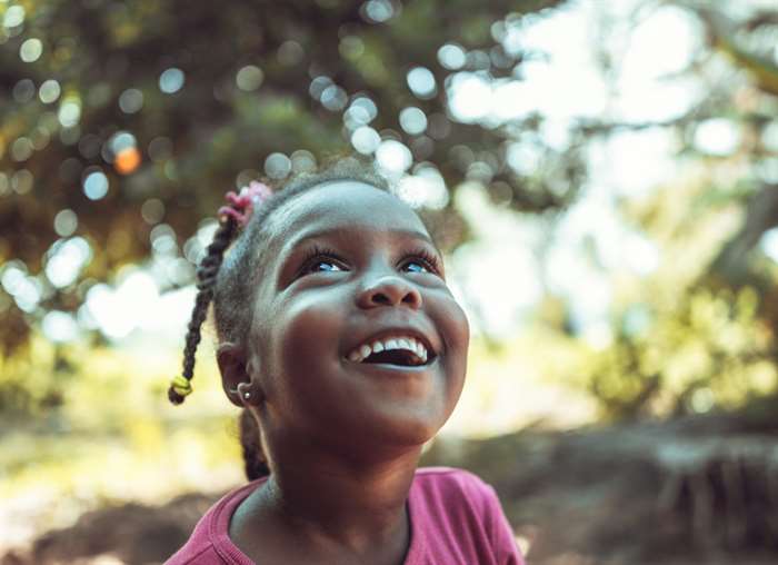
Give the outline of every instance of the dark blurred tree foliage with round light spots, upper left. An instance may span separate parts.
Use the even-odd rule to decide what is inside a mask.
[[[575,159],[558,160],[562,190],[526,186],[505,160],[516,125],[447,111],[455,73],[497,79],[521,63],[499,41],[503,18],[555,3],[0,3],[0,346],[11,354],[46,313],[77,310],[161,236],[196,261],[198,240],[181,246],[228,189],[349,149],[389,151],[395,174],[416,162],[449,187],[476,177],[517,209],[563,206]],[[437,206],[447,247],[467,237],[450,202]],[[66,255],[73,272],[57,271]],[[178,269],[166,286],[191,279]]]

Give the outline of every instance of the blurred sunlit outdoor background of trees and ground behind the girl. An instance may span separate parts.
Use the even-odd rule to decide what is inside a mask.
[[[159,563],[242,480],[223,194],[375,159],[473,328],[428,463],[530,564],[778,558],[774,0],[0,0],[0,563]]]

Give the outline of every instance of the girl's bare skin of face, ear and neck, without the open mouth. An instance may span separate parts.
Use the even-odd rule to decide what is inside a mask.
[[[316,187],[267,230],[250,336],[222,344],[218,361],[230,399],[258,418],[272,474],[230,537],[260,564],[401,564],[421,447],[463,385],[465,314],[421,220],[375,187]],[[348,359],[409,333],[431,349],[427,365]]]

